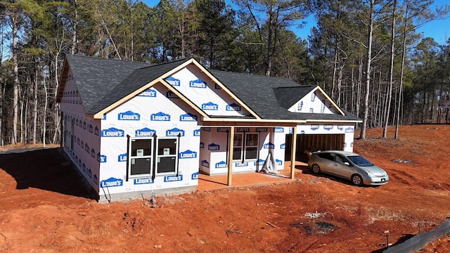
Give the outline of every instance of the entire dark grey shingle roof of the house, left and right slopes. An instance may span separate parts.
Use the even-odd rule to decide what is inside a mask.
[[[100,112],[158,79],[162,74],[190,60],[152,65],[89,56],[67,55],[66,58],[77,84],[84,110],[90,115]],[[288,108],[316,86],[301,86],[290,79],[280,77],[217,70],[210,70],[210,73],[262,119],[361,120],[345,110],[342,111],[346,115],[288,111]]]

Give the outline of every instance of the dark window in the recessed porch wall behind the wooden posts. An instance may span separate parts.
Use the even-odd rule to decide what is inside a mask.
[[[234,134],[233,160],[257,160],[258,140],[258,134]]]

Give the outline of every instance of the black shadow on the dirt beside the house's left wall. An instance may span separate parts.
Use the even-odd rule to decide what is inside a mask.
[[[60,148],[2,154],[0,169],[14,177],[18,190],[38,188],[96,200],[94,190]]]

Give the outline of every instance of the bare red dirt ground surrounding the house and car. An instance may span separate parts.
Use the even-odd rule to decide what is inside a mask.
[[[299,166],[295,182],[157,197],[156,208],[92,200],[58,148],[0,155],[0,252],[383,252],[387,234],[397,244],[450,216],[450,125],[393,131],[354,145],[390,174],[385,186]]]

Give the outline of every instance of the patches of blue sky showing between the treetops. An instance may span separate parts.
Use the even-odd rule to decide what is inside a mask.
[[[155,6],[160,2],[160,0],[142,0],[148,6]],[[232,4],[231,0],[225,0],[226,4],[231,4],[233,8],[236,9],[236,6]],[[443,6],[445,4],[450,5],[450,0],[435,0],[435,4],[432,6],[435,8],[436,6]],[[290,27],[291,30],[297,34],[297,37],[302,39],[308,39],[308,35],[311,34],[311,28],[316,25],[316,20],[313,15],[310,15],[306,20],[306,25],[302,29],[297,29],[296,27]],[[450,16],[444,20],[432,20],[421,27],[416,29],[417,32],[422,34],[425,37],[432,37],[435,39],[437,44],[445,44],[447,39],[450,37]]]

